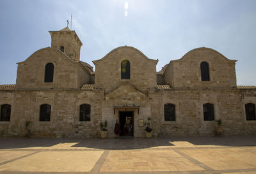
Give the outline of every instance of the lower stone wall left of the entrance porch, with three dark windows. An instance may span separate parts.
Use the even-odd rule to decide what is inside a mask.
[[[0,104],[12,105],[11,121],[0,122],[1,136],[22,136],[25,122],[30,121],[31,136],[93,137],[100,129],[95,117],[95,93],[91,91],[23,91],[0,92]],[[51,105],[51,121],[40,122],[40,105]],[[79,121],[79,106],[91,105],[90,122]],[[99,114],[98,114],[99,115]]]

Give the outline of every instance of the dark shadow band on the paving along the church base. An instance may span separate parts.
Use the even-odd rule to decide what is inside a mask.
[[[62,149],[85,147],[92,149],[145,149],[150,147],[175,147],[177,142],[193,145],[219,145],[230,147],[256,146],[256,136],[223,137],[160,137],[160,138],[0,138],[0,149],[29,147],[49,148],[73,143]],[[178,146],[179,147],[179,146]],[[56,147],[58,149],[58,147]]]

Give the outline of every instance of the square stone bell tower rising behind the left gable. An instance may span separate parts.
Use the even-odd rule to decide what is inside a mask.
[[[80,49],[83,45],[75,31],[68,27],[60,31],[49,31],[52,38],[51,47],[61,50],[70,59],[80,61]]]

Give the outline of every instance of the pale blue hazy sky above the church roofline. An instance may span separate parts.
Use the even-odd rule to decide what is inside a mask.
[[[16,62],[51,47],[48,31],[66,27],[71,13],[72,29],[83,42],[81,61],[92,66],[93,60],[128,45],[159,59],[159,71],[189,50],[209,47],[238,60],[237,85],[256,85],[254,0],[1,0],[0,84],[15,83]]]

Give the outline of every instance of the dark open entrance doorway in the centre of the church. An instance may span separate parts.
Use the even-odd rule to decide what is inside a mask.
[[[134,134],[134,119],[133,112],[119,112],[119,122],[121,133],[120,136],[133,136]]]

